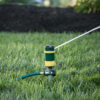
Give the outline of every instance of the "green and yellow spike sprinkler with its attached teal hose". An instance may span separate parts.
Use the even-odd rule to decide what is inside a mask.
[[[18,77],[14,80],[20,80],[20,79],[25,79],[30,76],[36,76],[36,75],[45,75],[48,76],[49,81],[52,80],[52,77],[56,75],[56,71],[52,70],[52,68],[56,65],[55,64],[55,56],[54,56],[54,46],[48,45],[45,47],[45,67],[47,70],[44,72],[34,72],[34,73],[29,73],[26,75],[23,75],[21,77]]]

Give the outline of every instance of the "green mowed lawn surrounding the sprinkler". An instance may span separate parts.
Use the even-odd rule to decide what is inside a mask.
[[[86,35],[56,50],[57,75],[14,81],[44,71],[44,48],[78,34],[0,33],[0,100],[100,100],[100,33]]]

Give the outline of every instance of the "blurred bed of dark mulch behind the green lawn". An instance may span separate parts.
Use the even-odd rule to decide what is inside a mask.
[[[0,31],[84,32],[98,25],[100,13],[80,14],[73,8],[0,5]]]

